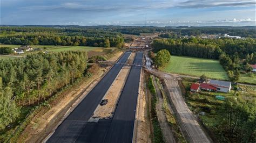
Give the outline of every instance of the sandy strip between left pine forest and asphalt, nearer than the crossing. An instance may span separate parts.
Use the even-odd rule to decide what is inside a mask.
[[[96,85],[100,80],[99,77],[103,74],[103,71],[100,71],[98,75],[93,76],[89,81],[86,81],[79,87],[73,89],[43,115],[39,112],[21,135],[26,136],[25,142],[42,141],[50,132],[52,132],[53,128],[59,123],[59,121],[63,120],[63,117],[73,106],[73,103],[75,103],[79,98],[84,98],[87,92]]]

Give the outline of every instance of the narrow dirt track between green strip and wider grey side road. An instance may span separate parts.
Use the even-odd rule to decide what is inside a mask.
[[[172,131],[167,123],[165,113],[163,111],[163,105],[164,105],[163,96],[161,95],[161,91],[158,88],[156,80],[154,79],[153,81],[154,81],[154,87],[156,87],[156,91],[157,91],[157,104],[156,104],[157,118],[159,120],[160,128],[161,128],[161,131],[163,132],[165,142],[176,142],[172,134]]]

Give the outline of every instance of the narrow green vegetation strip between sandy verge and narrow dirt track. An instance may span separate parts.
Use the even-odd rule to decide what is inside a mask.
[[[156,103],[157,103],[157,97],[156,97],[156,88],[154,87],[153,78],[152,76],[149,77],[147,80],[147,88],[149,89],[152,97],[151,97],[151,120],[153,124],[153,140],[152,142],[164,142],[164,136],[161,132],[161,128],[158,122],[157,118],[157,112],[156,112]]]

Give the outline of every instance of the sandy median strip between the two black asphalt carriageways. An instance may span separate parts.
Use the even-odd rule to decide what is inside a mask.
[[[132,64],[135,53],[131,53],[128,60],[126,61],[126,64]],[[105,96],[103,97],[102,101],[107,101],[105,105],[98,105],[95,112],[93,113],[92,118],[100,118],[100,119],[108,119],[111,118],[114,112],[114,109],[116,109],[116,104],[118,101],[118,98],[121,94],[121,91],[124,88],[124,84],[126,81],[127,76],[129,75],[131,67],[130,66],[124,66],[119,74],[117,75],[116,79],[112,83],[109,90],[106,92]]]

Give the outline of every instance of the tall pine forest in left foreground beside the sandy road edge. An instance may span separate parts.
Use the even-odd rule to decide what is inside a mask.
[[[0,60],[0,129],[19,116],[19,108],[45,101],[86,72],[86,52],[37,53]]]

